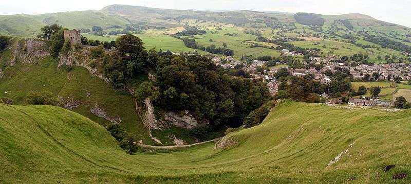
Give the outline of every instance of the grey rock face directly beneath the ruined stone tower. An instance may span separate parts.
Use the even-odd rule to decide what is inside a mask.
[[[59,67],[62,65],[81,66],[86,68],[92,76],[96,76],[106,82],[109,82],[109,80],[105,78],[104,75],[97,70],[97,68],[92,68],[90,66],[90,62],[96,62],[95,59],[91,59],[90,57],[90,50],[94,48],[96,47],[83,45],[80,49],[74,49],[69,51],[68,53],[61,54],[59,56]]]

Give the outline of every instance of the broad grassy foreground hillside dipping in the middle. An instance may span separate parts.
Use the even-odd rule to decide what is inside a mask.
[[[0,105],[0,181],[409,183],[410,120],[409,110],[286,101],[263,124],[229,134],[226,149],[210,143],[130,156],[77,113]],[[395,167],[385,172],[387,165]],[[405,178],[394,180],[397,174]]]

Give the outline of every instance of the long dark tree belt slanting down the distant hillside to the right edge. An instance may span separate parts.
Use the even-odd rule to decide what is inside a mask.
[[[383,36],[371,35],[371,34],[368,34],[367,32],[360,32],[360,34],[364,36],[364,39],[366,41],[379,44],[383,48],[390,48],[390,49],[394,49],[397,51],[411,53],[411,46],[406,45],[402,42],[390,40],[389,38],[383,37]]]

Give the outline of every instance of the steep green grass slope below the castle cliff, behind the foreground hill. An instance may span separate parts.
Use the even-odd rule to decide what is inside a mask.
[[[10,60],[10,51],[5,51],[0,60],[0,66],[4,61]],[[73,99],[80,105],[74,108],[84,116],[99,122],[108,123],[107,120],[98,118],[90,113],[89,109],[98,104],[109,116],[119,117],[121,125],[128,132],[136,135],[137,139],[143,139],[151,143],[147,138],[147,131],[135,112],[133,97],[128,93],[118,91],[103,80],[92,77],[82,67],[58,68],[58,60],[46,57],[37,63],[7,66],[4,77],[0,78],[0,98],[11,98],[15,104],[27,104],[26,97],[30,91],[49,90],[55,96],[64,99]],[[136,79],[137,84],[146,81],[143,75]],[[8,91],[5,94],[5,91]],[[90,96],[87,95],[87,92]]]

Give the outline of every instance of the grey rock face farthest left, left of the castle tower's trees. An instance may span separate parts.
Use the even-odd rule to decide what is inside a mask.
[[[11,45],[10,50],[13,59],[9,64],[12,66],[15,65],[17,61],[28,64],[50,55],[47,44],[42,40],[34,38],[19,40],[17,43]]]

